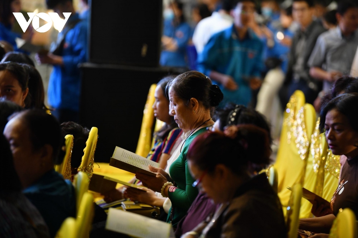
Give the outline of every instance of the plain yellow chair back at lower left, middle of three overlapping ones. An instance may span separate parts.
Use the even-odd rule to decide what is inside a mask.
[[[93,196],[89,192],[85,192],[79,206],[76,228],[78,238],[88,238],[91,231],[91,224],[94,215]]]

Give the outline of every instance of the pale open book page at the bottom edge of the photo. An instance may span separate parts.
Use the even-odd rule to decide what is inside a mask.
[[[115,208],[108,210],[106,229],[139,238],[174,237],[169,223]]]

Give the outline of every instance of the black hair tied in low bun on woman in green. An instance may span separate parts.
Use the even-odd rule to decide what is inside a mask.
[[[205,109],[216,107],[223,100],[223,93],[217,85],[198,71],[188,71],[171,80],[168,88],[172,88],[180,99],[189,104],[190,98],[196,98]]]

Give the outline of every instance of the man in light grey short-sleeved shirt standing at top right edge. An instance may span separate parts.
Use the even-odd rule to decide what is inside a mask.
[[[338,2],[338,26],[321,34],[308,61],[310,75],[323,81],[323,92],[342,75],[349,75],[358,46],[358,6]]]

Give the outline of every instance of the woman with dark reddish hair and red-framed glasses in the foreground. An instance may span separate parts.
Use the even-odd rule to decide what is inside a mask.
[[[187,153],[193,186],[220,204],[211,218],[182,237],[286,237],[280,200],[265,173],[253,176],[250,164],[270,163],[266,130],[254,125],[207,132]],[[220,158],[220,159],[218,159]]]

